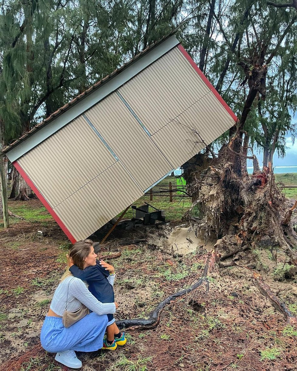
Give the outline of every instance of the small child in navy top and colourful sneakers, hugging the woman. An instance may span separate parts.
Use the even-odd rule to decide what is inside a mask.
[[[97,255],[94,253],[94,257]],[[74,277],[87,281],[89,291],[101,303],[114,302],[113,283],[115,279],[114,267],[103,260],[97,260],[96,265],[89,266],[84,270],[79,269],[73,262],[70,263],[69,270]],[[106,328],[107,338],[103,340],[102,349],[115,350],[118,345],[126,344],[124,332],[121,332],[115,324],[113,314],[108,314],[108,324]]]

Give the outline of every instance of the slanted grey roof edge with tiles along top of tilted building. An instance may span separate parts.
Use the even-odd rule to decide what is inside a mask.
[[[174,36],[175,33],[176,31],[153,44],[151,49],[143,52],[143,55],[140,55],[135,60],[131,60],[127,65],[122,66],[119,70],[116,70],[110,76],[107,76],[107,78],[97,83],[98,86],[96,86],[97,84],[93,85],[89,93],[83,93],[81,98],[75,101],[75,103],[71,104],[70,102],[70,104],[65,105],[64,107],[66,107],[66,110],[62,107],[60,109],[61,112],[53,116],[48,122],[43,121],[36,125],[31,132],[25,134],[23,138],[21,137],[18,139],[15,144],[4,148],[4,150],[0,152],[0,157],[6,154],[11,162],[16,161],[59,129],[69,124],[69,122],[82,115],[89,108],[114,92],[120,86],[124,85],[143,69],[147,68],[157,59],[173,49],[173,47],[178,45],[180,42]]]

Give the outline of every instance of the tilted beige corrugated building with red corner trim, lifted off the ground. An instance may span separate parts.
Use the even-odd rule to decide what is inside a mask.
[[[174,35],[3,152],[59,226],[85,239],[234,125]]]

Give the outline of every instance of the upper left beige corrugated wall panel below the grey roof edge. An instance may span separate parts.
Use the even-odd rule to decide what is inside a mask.
[[[82,116],[18,160],[52,207],[115,161]]]

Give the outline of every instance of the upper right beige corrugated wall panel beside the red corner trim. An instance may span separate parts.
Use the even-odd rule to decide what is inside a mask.
[[[175,47],[118,91],[153,134],[210,89]]]

